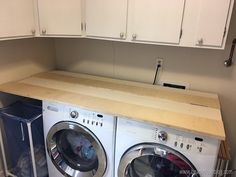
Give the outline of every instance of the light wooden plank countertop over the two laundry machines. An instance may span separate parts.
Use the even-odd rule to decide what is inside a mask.
[[[225,139],[216,94],[64,71],[40,73],[2,84],[0,91]]]

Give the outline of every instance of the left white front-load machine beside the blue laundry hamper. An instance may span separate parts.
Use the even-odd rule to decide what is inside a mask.
[[[49,177],[114,176],[115,118],[43,101]]]

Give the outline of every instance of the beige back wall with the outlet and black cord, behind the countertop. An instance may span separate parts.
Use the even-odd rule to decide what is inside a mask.
[[[229,57],[231,41],[236,37],[236,10],[231,23],[225,50],[56,39],[57,68],[152,83],[155,60],[162,57],[164,68],[159,80],[187,83],[192,90],[219,94],[226,132],[236,154],[236,64],[229,68],[223,65]],[[236,168],[236,156],[233,157]]]

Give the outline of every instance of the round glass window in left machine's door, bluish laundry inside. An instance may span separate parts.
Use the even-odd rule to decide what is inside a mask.
[[[55,138],[59,153],[72,168],[97,171],[97,153],[87,135],[73,130],[61,130],[55,134]]]

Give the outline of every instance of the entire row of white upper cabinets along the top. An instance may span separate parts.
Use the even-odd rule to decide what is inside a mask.
[[[225,47],[234,5],[234,0],[0,1],[1,40],[88,37],[214,49]]]

